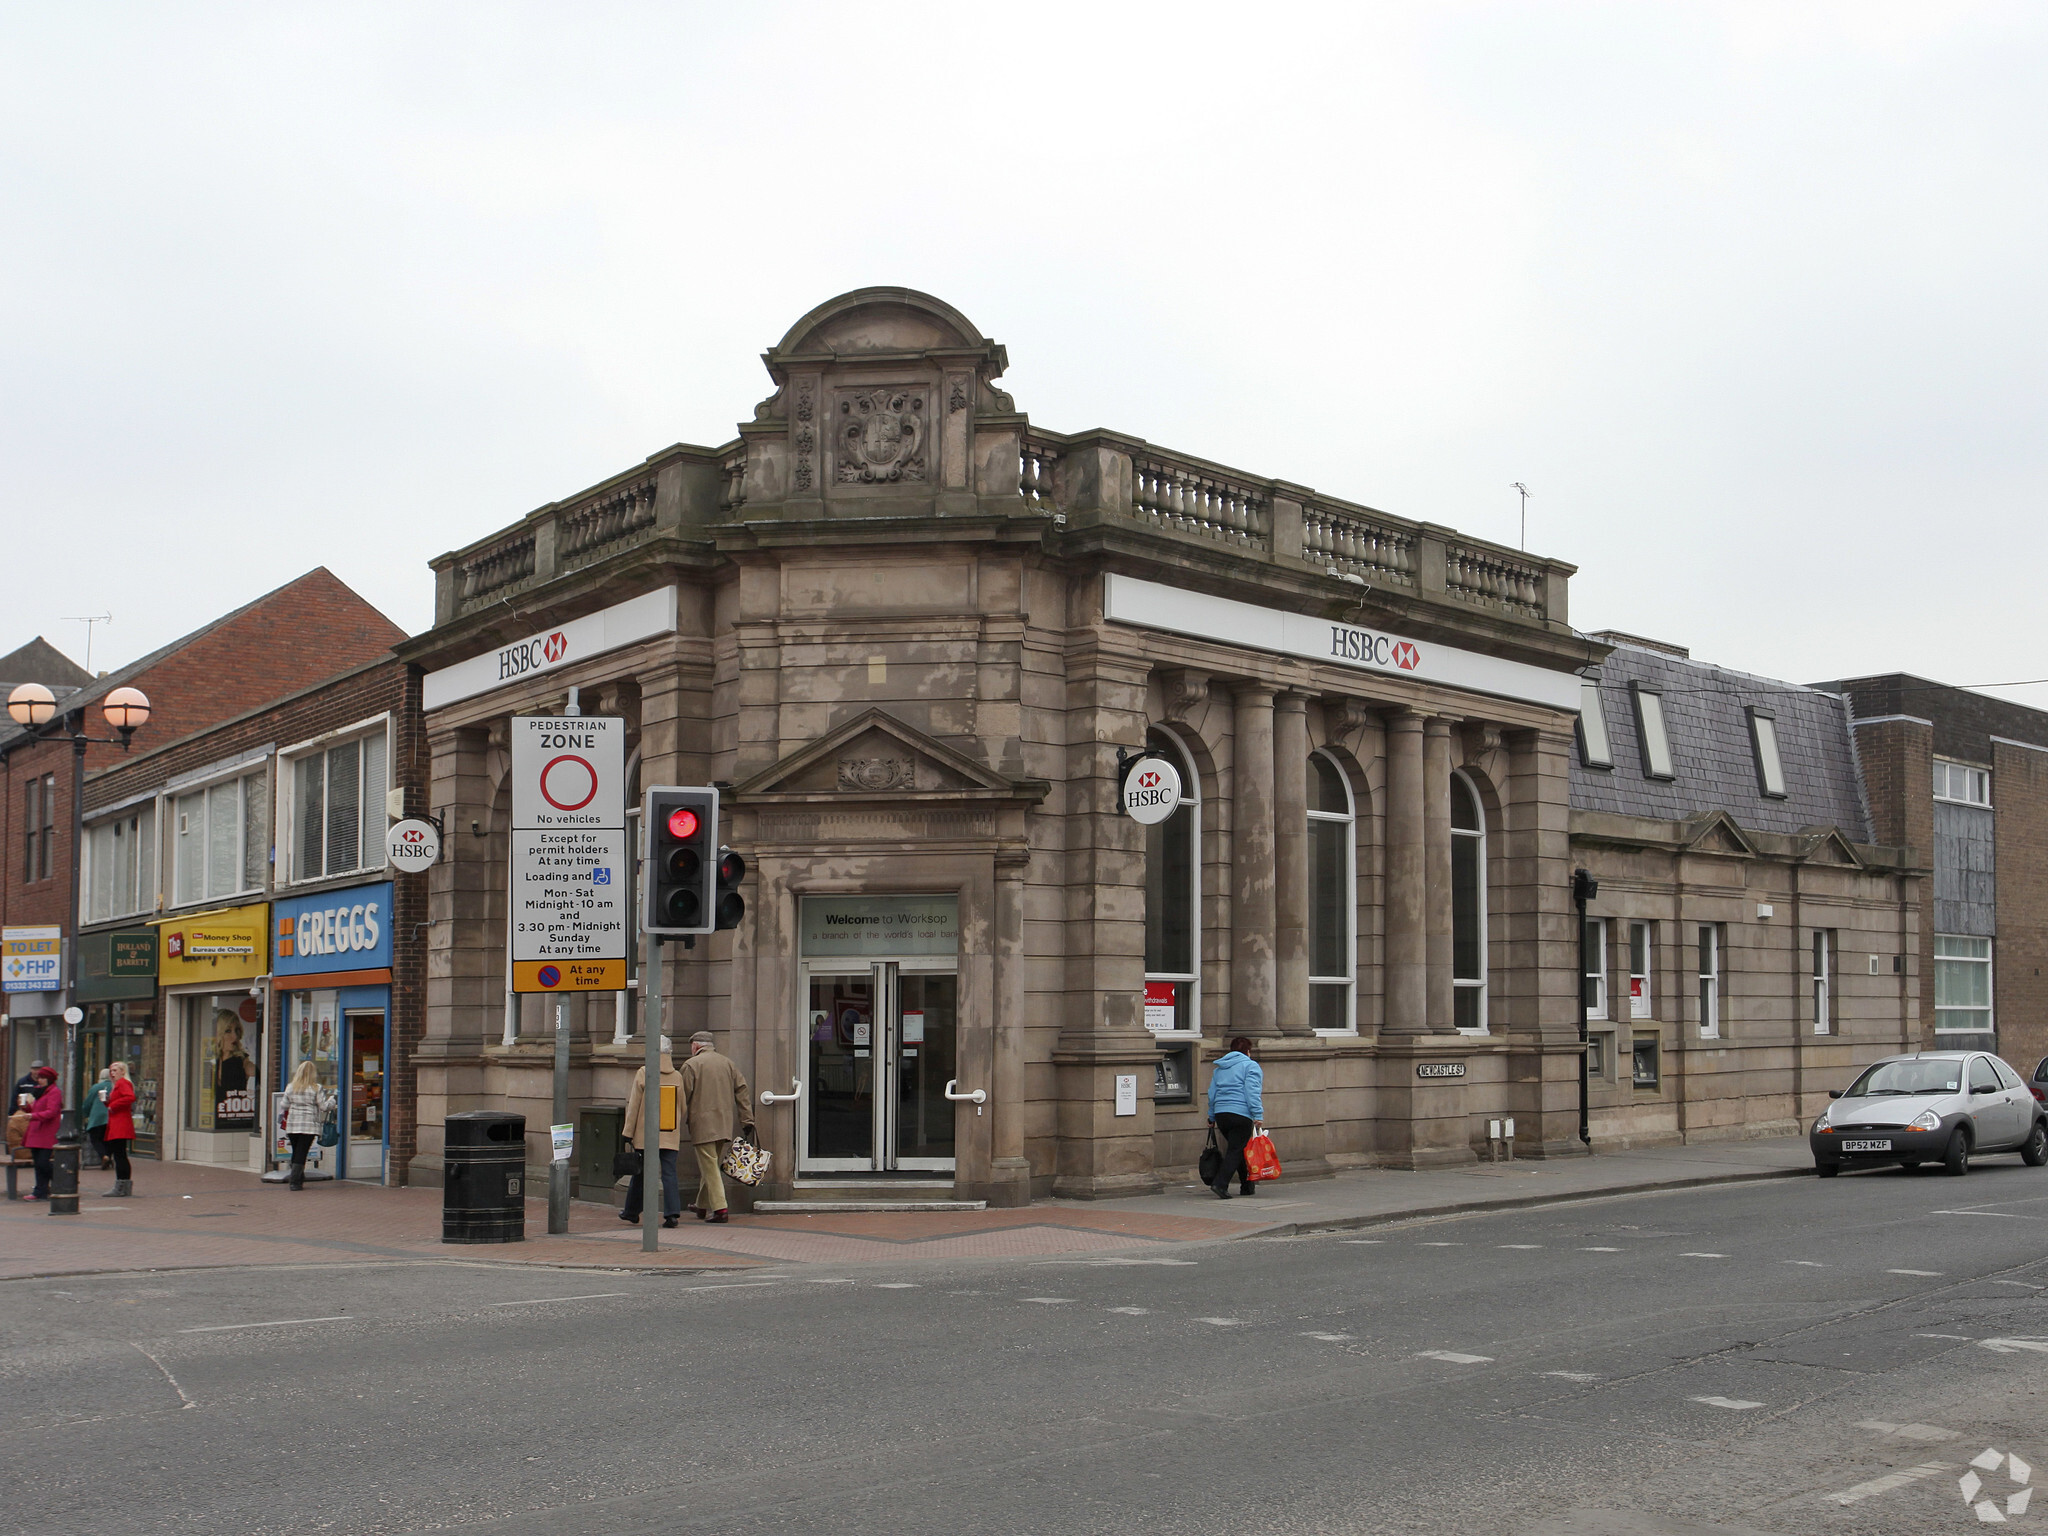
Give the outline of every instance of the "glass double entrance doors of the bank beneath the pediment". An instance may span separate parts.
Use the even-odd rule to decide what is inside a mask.
[[[950,1174],[958,977],[877,961],[805,991],[803,1169]]]

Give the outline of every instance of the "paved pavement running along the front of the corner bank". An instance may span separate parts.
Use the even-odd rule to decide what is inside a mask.
[[[135,1163],[137,1194],[100,1198],[84,1174],[78,1217],[0,1204],[0,1278],[182,1270],[236,1264],[369,1264],[449,1260],[563,1268],[729,1270],[762,1264],[883,1264],[905,1257],[1114,1253],[1229,1241],[1315,1227],[1360,1227],[1417,1214],[1505,1208],[1645,1188],[1686,1188],[1808,1171],[1804,1143],[1741,1141],[1554,1163],[1481,1163],[1458,1171],[1348,1171],[1262,1186],[1217,1200],[1200,1184],[1139,1200],[1040,1200],[1024,1210],[932,1210],[684,1219],[659,1253],[610,1206],[573,1202],[569,1231],[547,1235],[547,1202],[528,1200],[524,1243],[442,1245],[438,1190],[309,1184],[291,1192],[252,1174],[197,1163]]]

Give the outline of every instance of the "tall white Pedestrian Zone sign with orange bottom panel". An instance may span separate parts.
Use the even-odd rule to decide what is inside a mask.
[[[627,985],[625,721],[512,719],[512,989]]]

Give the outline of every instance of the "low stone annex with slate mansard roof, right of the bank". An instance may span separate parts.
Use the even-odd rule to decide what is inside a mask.
[[[1788,1135],[1921,1026],[1921,856],[1872,831],[1847,700],[1614,631],[1583,680],[1595,1147]]]

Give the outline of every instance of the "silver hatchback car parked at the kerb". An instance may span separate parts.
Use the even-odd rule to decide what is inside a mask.
[[[1806,1135],[1825,1180],[1843,1167],[1929,1161],[1968,1174],[1972,1153],[2017,1151],[2028,1167],[2048,1163],[2048,1106],[1982,1051],[1886,1057],[1829,1098]]]

